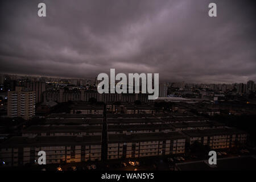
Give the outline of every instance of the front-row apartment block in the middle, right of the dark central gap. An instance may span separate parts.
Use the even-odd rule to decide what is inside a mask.
[[[141,158],[185,152],[185,136],[179,132],[108,135],[108,159]]]

